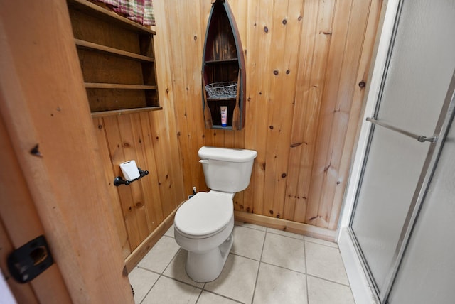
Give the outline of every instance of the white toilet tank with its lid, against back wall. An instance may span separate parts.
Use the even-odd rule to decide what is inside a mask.
[[[250,185],[254,150],[202,147],[198,152],[205,183],[211,190],[240,192]]]

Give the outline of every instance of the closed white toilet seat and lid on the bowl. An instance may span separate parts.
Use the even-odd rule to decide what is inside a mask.
[[[191,239],[204,239],[223,230],[234,215],[232,198],[198,192],[181,205],[174,224],[178,232]]]

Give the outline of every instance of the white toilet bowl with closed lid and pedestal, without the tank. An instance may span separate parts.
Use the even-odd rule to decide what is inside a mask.
[[[213,281],[223,270],[234,241],[233,196],[198,192],[176,212],[174,236],[188,251],[186,273],[193,281]]]

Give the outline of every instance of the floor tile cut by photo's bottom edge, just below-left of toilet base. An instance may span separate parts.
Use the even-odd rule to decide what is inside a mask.
[[[161,276],[142,303],[194,304],[200,292],[199,288]]]

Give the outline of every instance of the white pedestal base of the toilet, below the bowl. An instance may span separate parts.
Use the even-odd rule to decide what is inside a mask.
[[[234,236],[232,233],[220,246],[202,253],[188,251],[186,259],[186,273],[196,282],[210,282],[220,276],[232,244]]]

